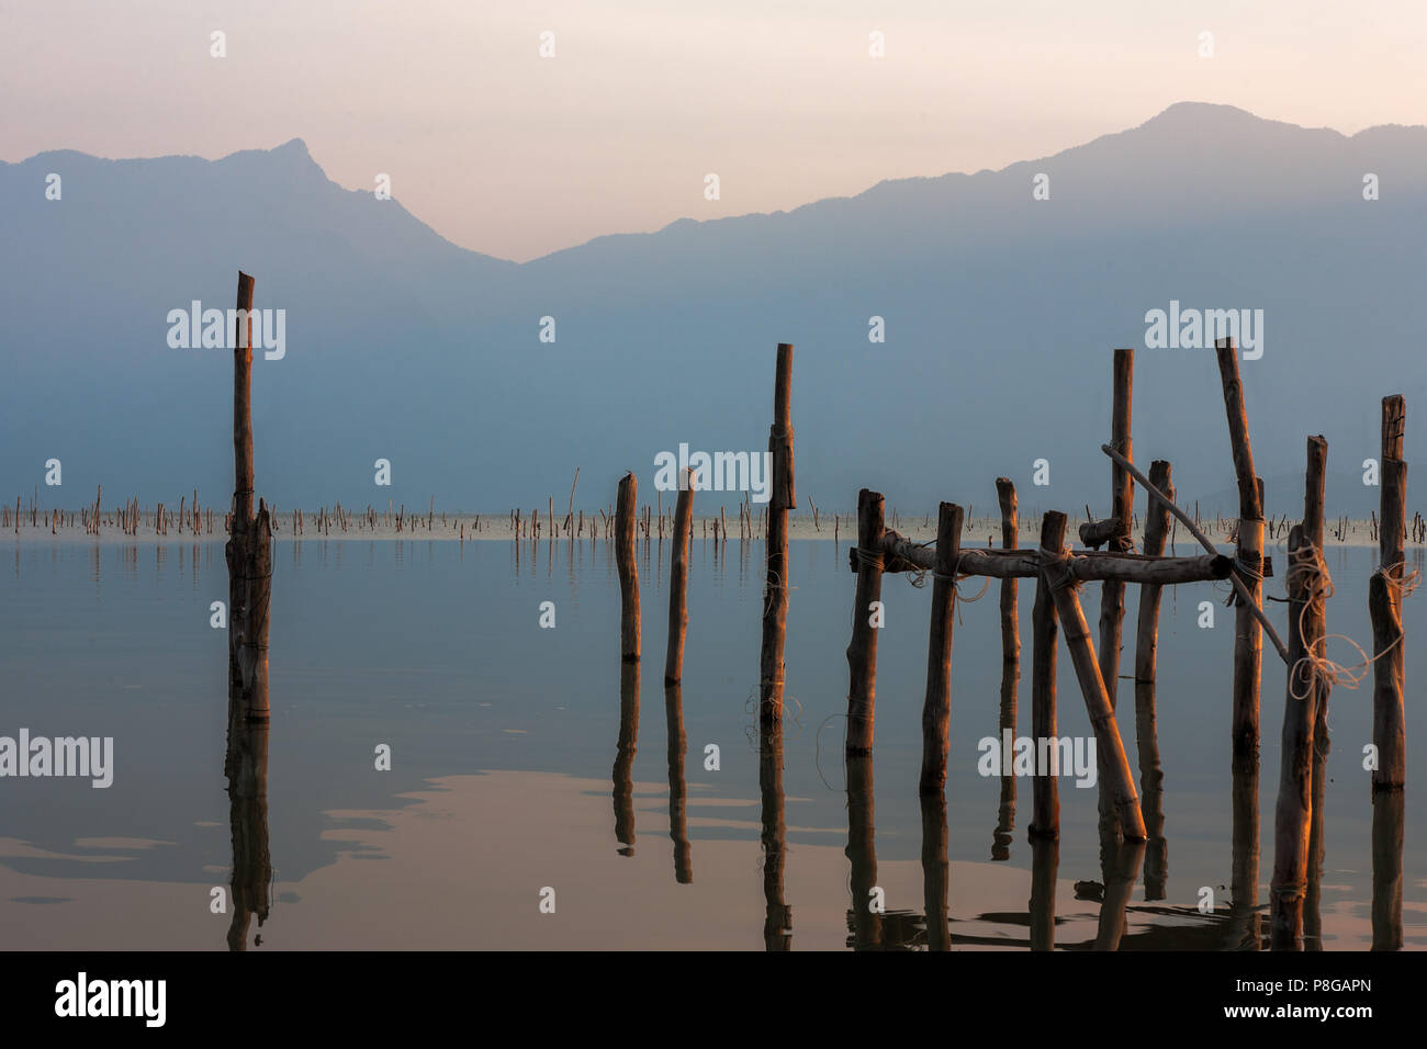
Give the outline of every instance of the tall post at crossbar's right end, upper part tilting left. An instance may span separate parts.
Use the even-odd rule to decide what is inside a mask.
[[[1254,605],[1263,605],[1263,491],[1254,474],[1249,444],[1249,414],[1239,380],[1239,351],[1233,338],[1214,340],[1219,378],[1224,390],[1224,415],[1239,481],[1239,531],[1236,575]],[[1263,678],[1263,631],[1243,599],[1234,602],[1233,754],[1259,758],[1259,689]]]

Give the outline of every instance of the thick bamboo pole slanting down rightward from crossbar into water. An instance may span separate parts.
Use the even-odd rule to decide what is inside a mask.
[[[1050,511],[1046,514],[1043,534],[1050,531],[1065,535],[1065,514]],[[1134,776],[1130,772],[1130,762],[1124,756],[1124,744],[1120,741],[1120,729],[1114,721],[1114,711],[1110,708],[1110,698],[1100,678],[1100,664],[1095,658],[1095,645],[1090,641],[1090,627],[1085,621],[1080,609],[1080,598],[1076,595],[1073,579],[1062,551],[1042,551],[1040,578],[1050,589],[1056,602],[1056,612],[1065,624],[1066,651],[1075,664],[1076,678],[1080,681],[1080,692],[1085,695],[1086,712],[1090,715],[1090,726],[1095,729],[1096,756],[1103,752],[1104,776],[1100,789],[1107,791],[1114,808],[1114,816],[1120,825],[1120,833],[1126,841],[1144,841],[1144,818],[1140,814],[1140,801],[1134,794]]]

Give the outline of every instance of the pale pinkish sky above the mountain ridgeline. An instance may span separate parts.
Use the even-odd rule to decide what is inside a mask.
[[[341,186],[388,173],[438,233],[519,261],[997,168],[1176,101],[1427,123],[1427,3],[0,0],[0,160],[304,138]]]

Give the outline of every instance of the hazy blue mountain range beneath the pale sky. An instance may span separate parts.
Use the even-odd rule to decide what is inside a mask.
[[[0,498],[198,487],[225,505],[231,354],[170,348],[166,318],[231,307],[243,268],[257,307],[287,311],[285,357],[254,365],[258,491],[280,508],[504,512],[564,504],[575,467],[578,505],[609,504],[629,468],[652,501],[659,451],[766,448],[788,341],[803,508],[866,485],[903,511],[980,511],[1009,475],[1027,512],[1104,512],[1110,351],[1130,345],[1136,460],[1172,460],[1182,501],[1232,511],[1213,353],[1146,348],[1146,311],[1177,300],[1264,311],[1241,368],[1270,508],[1299,512],[1304,437],[1323,432],[1329,511],[1366,514],[1384,394],[1407,395],[1408,461],[1427,464],[1424,230],[1427,127],[1346,137],[1192,103],[1000,171],[525,264],[337,186],[300,140],[217,161],[44,153],[0,164]],[[63,494],[43,490],[49,458]]]

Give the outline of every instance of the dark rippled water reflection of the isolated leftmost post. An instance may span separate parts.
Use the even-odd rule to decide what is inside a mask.
[[[267,921],[271,899],[273,861],[268,856],[267,818],[267,745],[268,725],[248,721],[243,701],[228,699],[228,752],[224,774],[228,778],[228,826],[233,835],[233,922],[228,925],[228,949],[245,951],[248,922]],[[258,933],[254,946],[263,946]]]

